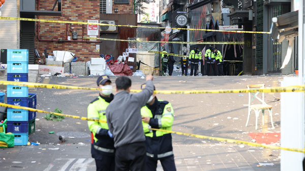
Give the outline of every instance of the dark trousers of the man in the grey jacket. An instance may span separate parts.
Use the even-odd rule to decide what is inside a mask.
[[[132,143],[116,148],[115,170],[144,170],[146,148],[144,142]]]

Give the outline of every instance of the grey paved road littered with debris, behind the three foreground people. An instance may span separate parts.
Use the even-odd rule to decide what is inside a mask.
[[[145,81],[140,77],[130,77],[132,79],[132,89],[140,89],[140,85]],[[81,87],[96,87],[97,77],[50,77],[40,78],[39,82],[51,84],[65,84]],[[266,87],[280,86],[283,76],[165,76],[155,77],[154,83],[157,90],[219,90],[219,89],[246,89],[247,84],[264,83]],[[115,77],[111,77],[114,82]],[[46,111],[54,111],[56,108],[65,114],[87,116],[87,106],[99,94],[98,91],[86,90],[66,90],[66,89],[41,89],[37,88],[30,93],[37,93],[37,108]],[[248,114],[248,94],[192,94],[192,95],[157,95],[159,99],[169,101],[174,108],[173,131],[186,132],[192,134],[230,138],[244,141],[252,141],[248,133],[280,132],[280,94],[265,94],[265,102],[271,105],[273,113],[273,122],[275,129],[270,129],[270,118],[265,117],[265,126],[261,125],[262,116],[259,117],[258,130],[255,130],[255,116],[251,115],[249,125],[246,127]],[[16,146],[13,149],[1,150],[6,160],[1,159],[0,165],[5,166],[5,170],[18,170],[16,168],[29,168],[31,164],[13,163],[16,161],[27,161],[31,163],[31,158],[22,159],[18,157],[18,150],[25,154],[39,155],[45,157],[34,157],[37,161],[34,170],[55,170],[50,163],[58,163],[63,166],[70,162],[62,160],[65,158],[74,158],[74,160],[65,169],[78,170],[75,164],[87,162],[83,170],[94,168],[94,162],[90,159],[90,137],[87,121],[65,118],[63,121],[49,121],[44,117],[44,113],[37,113],[36,132],[29,136],[29,141],[39,142],[41,145],[35,147]],[[55,134],[49,134],[55,132]],[[60,143],[58,135],[67,136],[65,143]],[[70,137],[70,138],[68,138]],[[249,169],[249,170],[279,170],[280,169],[280,151],[253,149],[249,146],[239,146],[238,144],[226,144],[224,142],[190,138],[181,135],[173,135],[173,145],[175,161],[178,170],[222,170],[222,169]],[[60,148],[59,150],[48,150],[48,148]],[[77,147],[77,148],[76,148]],[[205,149],[198,151],[196,148]],[[46,150],[42,150],[46,149]],[[186,150],[189,149],[189,150]],[[212,149],[212,152],[208,152]],[[220,150],[223,149],[223,150]],[[252,150],[253,149],[253,150]],[[64,150],[64,151],[63,151]],[[250,152],[249,152],[250,150]],[[253,152],[254,151],[254,152]],[[40,153],[38,153],[40,152]],[[17,154],[16,154],[17,153]],[[81,154],[80,154],[81,153]],[[195,153],[195,154],[193,154]],[[228,154],[226,154],[228,153]],[[251,154],[250,154],[251,153]],[[43,155],[45,154],[45,155]],[[75,155],[73,155],[75,154]],[[59,156],[58,156],[59,155]],[[240,157],[242,159],[234,160],[235,164],[230,165],[232,161],[224,161],[226,158],[233,159]],[[209,157],[212,159],[208,159]],[[247,159],[247,157],[249,159]],[[48,159],[49,158],[49,159]],[[62,158],[61,160],[58,158]],[[80,160],[84,158],[84,160]],[[38,162],[39,160],[39,162]],[[60,161],[59,161],[60,160]],[[210,160],[210,161],[208,161]],[[211,161],[212,160],[212,161]],[[213,162],[214,160],[214,162]],[[239,160],[239,161],[238,161]],[[245,160],[243,164],[239,164]],[[273,162],[275,166],[258,167],[259,162]],[[24,163],[24,162],[23,162]],[[40,163],[40,167],[36,167]],[[60,164],[62,163],[62,164]],[[74,163],[74,164],[73,164]],[[213,165],[214,164],[214,165]],[[17,167],[13,167],[13,166]],[[59,168],[59,167],[58,167]],[[77,167],[78,168],[78,167]],[[81,168],[81,167],[80,167]],[[160,168],[160,167],[159,167]],[[61,168],[63,169],[63,168]]]

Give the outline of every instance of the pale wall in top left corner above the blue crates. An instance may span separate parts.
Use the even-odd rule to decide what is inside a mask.
[[[19,0],[6,0],[2,17],[19,17]],[[20,21],[0,20],[0,49],[19,49]]]

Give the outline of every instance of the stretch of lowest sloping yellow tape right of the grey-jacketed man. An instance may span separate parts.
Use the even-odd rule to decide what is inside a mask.
[[[259,143],[253,143],[253,142],[247,142],[247,141],[241,141],[241,140],[233,140],[233,139],[219,138],[219,137],[209,137],[209,136],[202,136],[202,135],[197,135],[197,134],[181,133],[181,132],[176,132],[176,131],[167,131],[167,130],[160,130],[160,129],[153,129],[153,128],[151,128],[150,130],[162,131],[162,132],[190,136],[190,137],[196,137],[196,138],[200,138],[200,139],[226,141],[228,143],[246,144],[246,145],[254,146],[254,147],[263,147],[263,148],[269,148],[269,149],[275,149],[275,150],[286,150],[286,151],[295,151],[295,152],[305,153],[305,149],[300,149],[300,148],[285,148],[285,147],[278,147],[278,146],[267,146],[267,145],[263,145],[263,144],[259,144]]]

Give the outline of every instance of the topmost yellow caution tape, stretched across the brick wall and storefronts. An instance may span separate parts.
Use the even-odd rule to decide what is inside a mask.
[[[107,26],[116,26],[116,27],[139,27],[139,28],[167,29],[166,27],[151,27],[151,26],[138,26],[138,25],[118,25],[118,24],[104,24],[104,23],[88,23],[88,22],[78,22],[78,21],[59,21],[59,20],[45,20],[45,19],[19,18],[19,17],[1,17],[1,16],[0,16],[0,20],[39,21],[39,22],[50,22],[50,23],[88,24],[88,25],[107,25]],[[270,32],[265,32],[265,31],[212,30],[212,29],[201,29],[201,28],[171,28],[171,29],[233,32],[233,33],[270,34]]]

